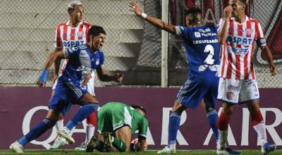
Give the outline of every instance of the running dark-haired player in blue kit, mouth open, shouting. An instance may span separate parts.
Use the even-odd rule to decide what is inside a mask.
[[[107,75],[102,68],[104,63],[104,54],[101,51],[104,45],[106,32],[103,27],[92,26],[88,33],[89,44],[82,46],[73,46],[70,49],[63,49],[50,54],[44,66],[44,70],[37,81],[39,87],[46,85],[48,70],[56,58],[68,58],[68,63],[63,74],[58,78],[55,94],[49,103],[49,111],[42,122],[37,124],[27,135],[24,135],[16,142],[11,144],[10,149],[16,153],[23,153],[23,145],[35,140],[44,132],[52,128],[58,120],[59,113],[68,106],[68,104],[78,104],[81,108],[75,116],[67,123],[65,131],[61,136],[66,138],[68,143],[75,141],[68,136],[68,132],[75,128],[78,123],[87,118],[90,113],[97,111],[99,104],[96,97],[87,92],[87,87],[82,82],[89,76],[93,70],[97,70],[100,79],[104,81],[120,80],[122,76]]]

